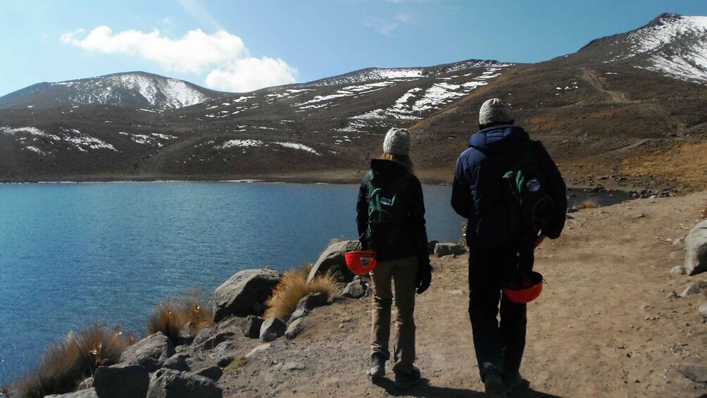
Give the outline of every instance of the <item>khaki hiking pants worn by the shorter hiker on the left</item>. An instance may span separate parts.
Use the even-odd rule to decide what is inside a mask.
[[[409,373],[415,361],[415,277],[417,257],[406,257],[379,262],[370,279],[373,282],[373,328],[370,331],[370,351],[390,359],[390,310],[393,301],[391,282],[395,284],[395,323],[397,334],[393,352],[395,353],[395,373]]]

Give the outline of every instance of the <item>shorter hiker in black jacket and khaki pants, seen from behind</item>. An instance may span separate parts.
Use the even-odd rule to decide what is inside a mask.
[[[389,186],[403,179],[404,219],[397,243],[392,247],[376,250],[377,265],[370,272],[373,282],[373,327],[370,335],[370,365],[366,374],[376,378],[385,375],[385,361],[390,358],[390,312],[395,281],[395,308],[397,336],[395,341],[395,386],[406,389],[420,380],[420,370],[415,361],[415,291],[422,293],[430,286],[431,266],[425,228],[425,205],[422,186],[415,177],[409,158],[410,134],[407,129],[392,128],[383,141],[383,155],[370,161],[370,172],[363,177],[356,204],[356,224],[363,249],[370,249],[366,239],[368,230],[368,204],[370,185]],[[369,184],[369,182],[371,184]]]

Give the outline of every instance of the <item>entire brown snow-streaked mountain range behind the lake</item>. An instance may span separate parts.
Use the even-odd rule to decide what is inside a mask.
[[[663,14],[537,64],[369,68],[250,93],[142,73],[40,83],[0,98],[0,180],[352,182],[385,131],[407,127],[419,177],[448,182],[498,97],[569,184],[695,189],[706,19]]]

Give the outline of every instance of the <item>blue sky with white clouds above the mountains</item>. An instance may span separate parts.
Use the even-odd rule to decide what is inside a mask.
[[[216,90],[369,66],[540,62],[706,0],[1,0],[0,95],[148,71]]]

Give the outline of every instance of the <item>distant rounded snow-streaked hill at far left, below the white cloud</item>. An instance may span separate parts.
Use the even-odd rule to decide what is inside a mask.
[[[0,109],[113,105],[166,110],[203,103],[223,93],[145,72],[38,83],[0,97]]]

